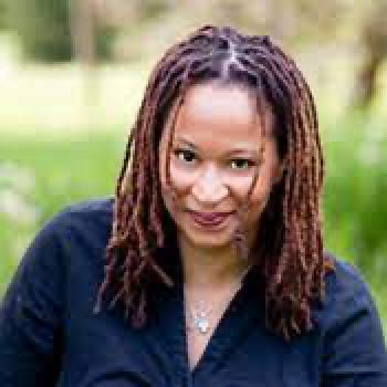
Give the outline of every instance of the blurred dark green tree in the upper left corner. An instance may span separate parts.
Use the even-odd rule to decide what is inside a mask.
[[[91,8],[95,1],[4,1],[6,4],[7,27],[18,34],[25,57],[43,62],[69,61],[75,56],[75,53],[81,54],[81,51],[86,50],[88,50],[87,55],[97,59],[108,57],[113,34],[108,27],[92,23]],[[77,2],[80,4],[71,7]],[[76,21],[71,18],[74,17],[72,13],[74,8],[76,9],[74,11]],[[74,32],[72,28],[75,28]],[[88,32],[84,36],[86,30]],[[87,49],[86,45],[88,45]],[[82,55],[85,55],[85,52]]]

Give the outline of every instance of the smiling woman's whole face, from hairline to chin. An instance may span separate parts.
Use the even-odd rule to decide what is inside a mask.
[[[252,94],[239,85],[215,82],[191,86],[176,119],[170,147],[168,189],[166,160],[171,115],[159,145],[164,203],[179,239],[198,248],[231,245],[238,228],[252,242],[272,186],[281,177],[272,115],[265,109],[265,136]],[[260,149],[263,149],[263,153]],[[242,215],[241,203],[249,207]]]

